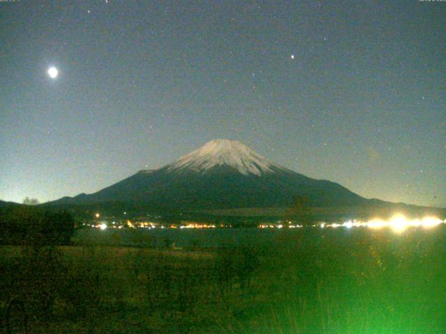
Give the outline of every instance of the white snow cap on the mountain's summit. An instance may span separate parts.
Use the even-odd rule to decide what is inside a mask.
[[[206,172],[215,166],[229,166],[243,175],[273,173],[275,168],[286,169],[272,163],[266,157],[254,152],[239,141],[214,139],[201,148],[180,157],[167,170],[194,170]]]

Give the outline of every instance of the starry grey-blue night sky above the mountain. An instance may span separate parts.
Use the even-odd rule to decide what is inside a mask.
[[[92,193],[228,138],[446,207],[445,43],[444,1],[2,1],[0,199]]]

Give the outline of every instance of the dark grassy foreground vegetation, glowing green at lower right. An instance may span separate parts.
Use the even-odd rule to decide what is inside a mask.
[[[172,250],[2,246],[30,333],[445,333],[446,230],[278,233]]]

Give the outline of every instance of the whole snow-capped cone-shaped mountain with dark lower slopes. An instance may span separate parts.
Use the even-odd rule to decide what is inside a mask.
[[[316,207],[369,200],[340,184],[315,180],[275,164],[238,141],[215,139],[171,164],[138,173],[96,193],[48,204],[212,210],[289,207],[296,197]]]

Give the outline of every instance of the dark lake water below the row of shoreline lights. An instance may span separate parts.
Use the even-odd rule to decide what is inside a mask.
[[[215,229],[107,229],[86,228],[77,230],[72,241],[75,244],[106,244],[121,246],[149,247],[221,247],[221,246],[273,246],[287,243],[290,240],[302,239],[304,242],[318,244],[334,242],[344,244],[348,239],[372,237],[393,240],[399,244],[407,238],[423,240],[439,237],[445,233],[445,226],[433,229],[411,228],[401,234],[383,228],[369,230],[367,228],[215,228]],[[435,234],[436,237],[435,237]],[[430,235],[430,237],[429,237]],[[407,241],[407,240],[406,240]],[[413,241],[413,240],[412,240]]]

